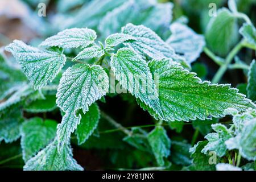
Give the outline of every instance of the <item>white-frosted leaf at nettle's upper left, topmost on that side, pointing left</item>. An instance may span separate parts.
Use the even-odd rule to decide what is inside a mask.
[[[39,46],[52,47],[58,46],[62,48],[85,48],[92,44],[97,38],[96,32],[89,28],[70,28],[53,35]]]

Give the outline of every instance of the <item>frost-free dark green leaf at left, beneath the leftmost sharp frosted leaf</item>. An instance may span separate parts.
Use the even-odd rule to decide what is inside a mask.
[[[56,96],[46,95],[44,99],[32,101],[24,106],[29,113],[44,113],[56,109]]]

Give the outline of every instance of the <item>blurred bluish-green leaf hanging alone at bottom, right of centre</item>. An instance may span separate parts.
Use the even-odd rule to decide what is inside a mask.
[[[148,142],[159,166],[164,166],[164,158],[170,155],[171,140],[162,126],[156,126],[147,136]]]

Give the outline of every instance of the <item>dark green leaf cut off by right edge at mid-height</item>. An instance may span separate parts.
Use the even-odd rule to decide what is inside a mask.
[[[247,85],[247,95],[248,97],[256,101],[256,62],[253,60],[250,64],[250,69],[248,73],[248,85]]]

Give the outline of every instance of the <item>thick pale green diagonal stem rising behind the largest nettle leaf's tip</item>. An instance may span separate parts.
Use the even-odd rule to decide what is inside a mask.
[[[217,73],[213,77],[212,83],[216,84],[219,82],[226,72],[226,69],[228,69],[229,64],[233,60],[234,56],[237,55],[237,53],[240,51],[240,49],[243,47],[243,40],[237,44],[236,47],[232,49],[232,51],[229,53],[229,55],[226,57],[225,64],[221,65],[221,67],[218,69]]]

